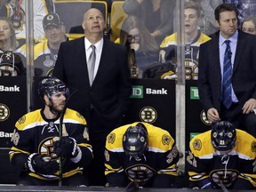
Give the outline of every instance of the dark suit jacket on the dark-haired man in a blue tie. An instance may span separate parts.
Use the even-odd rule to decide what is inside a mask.
[[[198,89],[203,108],[217,108],[220,113],[221,73],[220,73],[220,32],[200,45],[198,66]],[[256,36],[238,30],[236,57],[234,60],[232,85],[239,100],[239,110],[244,102],[256,99]]]

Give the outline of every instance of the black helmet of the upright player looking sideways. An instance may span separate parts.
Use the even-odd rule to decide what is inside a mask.
[[[69,91],[66,84],[56,77],[44,78],[38,84],[38,93],[42,100],[44,100],[44,94],[51,100],[52,94],[56,92],[65,92],[65,96],[68,98]]]

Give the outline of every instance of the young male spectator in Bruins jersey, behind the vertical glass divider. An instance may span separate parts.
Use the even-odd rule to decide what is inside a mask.
[[[198,78],[198,57],[199,45],[210,39],[198,29],[200,20],[200,7],[193,1],[184,4],[185,17],[185,78],[187,80],[197,80]],[[160,44],[160,55],[164,55],[165,60],[172,60],[177,63],[177,33],[164,38]]]

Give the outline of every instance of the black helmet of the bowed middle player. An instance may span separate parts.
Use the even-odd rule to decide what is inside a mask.
[[[126,155],[141,156],[148,144],[148,132],[144,124],[130,126],[123,137],[123,148]]]

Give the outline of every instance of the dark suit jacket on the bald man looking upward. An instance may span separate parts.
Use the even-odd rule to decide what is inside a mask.
[[[68,107],[83,114],[89,124],[91,106],[99,122],[109,129],[116,128],[112,126],[126,113],[132,85],[124,46],[104,39],[100,66],[91,87],[84,37],[64,42],[60,44],[53,76],[65,82],[71,92],[77,90]]]

